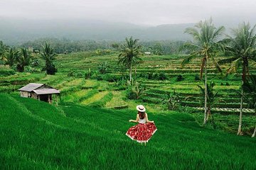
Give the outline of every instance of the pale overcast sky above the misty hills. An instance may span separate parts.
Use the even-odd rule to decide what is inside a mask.
[[[255,0],[0,0],[0,17],[85,18],[144,25],[256,21]]]

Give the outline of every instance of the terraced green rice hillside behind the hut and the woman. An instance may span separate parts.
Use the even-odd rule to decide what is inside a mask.
[[[37,82],[48,84],[61,91],[61,102],[77,103],[82,106],[97,108],[134,109],[138,103],[143,103],[149,111],[166,111],[162,100],[166,94],[178,94],[178,109],[180,113],[191,113],[199,123],[202,123],[202,96],[197,85],[203,86],[198,79],[200,60],[193,60],[191,64],[181,69],[181,55],[145,55],[143,62],[133,72],[134,80],[144,88],[144,93],[137,100],[127,98],[127,72],[121,70],[117,64],[117,52],[102,54],[96,52],[78,52],[68,55],[58,55],[56,65],[58,73],[55,76],[44,73],[17,73],[0,77],[0,92],[16,93],[17,89]],[[216,57],[219,60],[223,57]],[[99,64],[107,62],[107,74],[98,72]],[[240,88],[241,75],[216,72],[213,63],[209,63],[209,81],[215,82],[218,91],[218,102],[212,108],[218,129],[235,133],[238,128],[240,97],[235,90]],[[41,61],[43,65],[43,61]],[[223,66],[223,70],[228,65]],[[41,67],[36,68],[41,70]],[[90,79],[87,74],[91,72]],[[255,74],[255,67],[251,68]],[[181,77],[178,80],[178,77]],[[193,97],[190,98],[189,97]],[[251,135],[255,127],[255,116],[248,104],[244,103],[242,129],[245,135]]]

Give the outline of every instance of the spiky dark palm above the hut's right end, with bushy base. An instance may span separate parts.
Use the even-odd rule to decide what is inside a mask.
[[[46,42],[43,46],[43,52],[40,53],[44,60],[46,60],[46,66],[43,70],[46,71],[46,74],[55,74],[57,69],[55,68],[55,64],[53,64],[53,60],[55,60],[56,54],[53,50],[53,47],[50,47],[50,44]]]

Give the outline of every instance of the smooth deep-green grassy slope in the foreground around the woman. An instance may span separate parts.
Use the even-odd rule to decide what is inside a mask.
[[[1,169],[255,169],[256,144],[201,128],[191,115],[149,113],[146,147],[125,134],[134,111],[48,105],[0,94]],[[40,108],[40,109],[38,109]]]

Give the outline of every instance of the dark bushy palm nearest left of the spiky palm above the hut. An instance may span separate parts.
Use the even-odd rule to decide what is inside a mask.
[[[24,72],[24,67],[28,66],[31,60],[31,55],[26,48],[21,48],[21,55],[17,55],[17,71]]]

